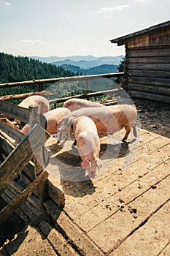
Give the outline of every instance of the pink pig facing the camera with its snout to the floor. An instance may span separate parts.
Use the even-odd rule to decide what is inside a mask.
[[[100,140],[94,122],[88,116],[72,118],[73,133],[77,140],[77,150],[82,159],[81,165],[88,171],[89,178],[95,178],[96,170],[102,166],[98,158]]]

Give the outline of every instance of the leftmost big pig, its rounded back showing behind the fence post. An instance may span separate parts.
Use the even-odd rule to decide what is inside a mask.
[[[39,113],[46,113],[49,111],[50,105],[47,99],[45,97],[42,97],[40,95],[32,95],[30,97],[27,97],[26,99],[23,99],[22,102],[18,106],[22,108],[28,108],[30,105],[38,105],[39,106]],[[20,121],[15,119],[15,123],[20,124]]]

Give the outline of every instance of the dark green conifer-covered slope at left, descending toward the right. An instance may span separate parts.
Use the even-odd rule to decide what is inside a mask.
[[[64,67],[42,63],[28,57],[15,57],[0,53],[0,83],[20,82],[23,80],[60,78],[73,76],[74,73]],[[36,86],[18,86],[15,88],[1,89],[0,96],[9,94],[23,94],[36,91]]]

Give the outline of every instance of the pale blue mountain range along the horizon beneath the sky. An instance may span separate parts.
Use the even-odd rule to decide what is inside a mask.
[[[63,64],[74,65],[82,69],[89,69],[90,67],[96,67],[103,64],[118,65],[123,59],[123,55],[120,56],[67,56],[67,57],[38,57],[33,56],[32,59],[39,59],[42,62],[50,62],[56,66],[61,66]]]

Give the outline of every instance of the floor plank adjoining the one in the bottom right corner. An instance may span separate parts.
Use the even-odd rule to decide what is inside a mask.
[[[88,232],[88,236],[105,253],[116,249],[125,241],[129,234],[142,226],[159,208],[168,202],[169,186],[170,176],[160,181],[156,189],[150,187],[141,197],[134,198],[131,203],[123,208],[123,211],[117,211],[104,222],[94,227]],[[134,218],[134,214],[131,214],[129,209],[137,209],[139,211],[137,218]],[[96,240],[96,234],[98,233],[102,233],[102,236],[98,236]]]

